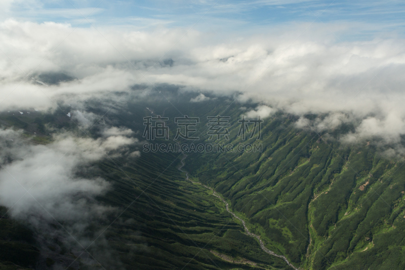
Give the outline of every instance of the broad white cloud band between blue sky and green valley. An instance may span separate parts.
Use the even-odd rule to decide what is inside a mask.
[[[335,33],[344,32],[344,24],[306,27],[290,25],[289,31],[218,42],[195,30],[184,35],[183,29],[94,30],[7,20],[0,23],[0,45],[7,55],[0,60],[0,105],[45,109],[62,98],[105,97],[131,91],[134,84],[175,84],[197,91],[192,102],[208,100],[201,91],[239,93],[241,103],[300,115],[298,126],[309,121],[304,117],[308,113],[329,115],[311,124],[321,130],[355,121],[356,132],[346,141],[377,136],[398,142],[405,133],[404,41],[376,37],[342,42]],[[77,80],[35,83],[35,74],[51,71]],[[260,108],[255,111],[250,113]],[[83,113],[72,115],[86,126]]]

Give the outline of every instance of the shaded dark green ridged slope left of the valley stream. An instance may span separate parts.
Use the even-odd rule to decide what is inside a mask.
[[[104,177],[114,181],[113,191],[103,201],[117,207],[131,205],[105,234],[111,247],[120,252],[123,264],[142,269],[236,267],[209,252],[214,250],[263,266],[286,266],[242,234],[241,225],[230,218],[210,192],[184,181],[176,167],[170,166],[176,158],[179,160],[150,154],[120,169],[114,163],[102,165]],[[167,171],[160,175],[161,168],[166,167]]]

